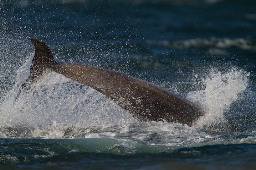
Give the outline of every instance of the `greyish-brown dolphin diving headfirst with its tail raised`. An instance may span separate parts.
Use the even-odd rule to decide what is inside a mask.
[[[21,87],[37,81],[49,70],[96,89],[139,121],[167,121],[193,125],[204,115],[196,104],[164,88],[142,79],[102,67],[61,63],[53,59],[51,50],[39,39],[32,38],[35,55],[30,75]]]

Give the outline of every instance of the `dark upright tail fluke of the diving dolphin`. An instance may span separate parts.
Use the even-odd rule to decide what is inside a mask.
[[[53,59],[51,50],[45,43],[36,38],[31,38],[30,40],[35,46],[35,55],[30,66],[30,75],[21,87],[26,87],[27,84],[35,82],[48,68],[52,68],[57,64]]]

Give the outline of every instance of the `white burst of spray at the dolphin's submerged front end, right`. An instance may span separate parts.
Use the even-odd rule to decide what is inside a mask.
[[[224,112],[237,99],[238,94],[246,89],[249,75],[244,70],[231,68],[226,72],[213,70],[201,79],[200,83],[205,88],[187,95],[189,100],[199,103],[205,110],[205,116],[196,122],[196,126],[216,128],[215,125],[225,124]]]

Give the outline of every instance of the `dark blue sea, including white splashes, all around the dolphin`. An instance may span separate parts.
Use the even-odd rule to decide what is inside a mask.
[[[0,169],[256,169],[256,1],[0,0]],[[58,62],[101,66],[205,110],[139,122],[50,72],[21,89],[39,38]]]

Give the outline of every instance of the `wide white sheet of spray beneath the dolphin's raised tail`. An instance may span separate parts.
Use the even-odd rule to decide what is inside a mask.
[[[20,85],[29,75],[33,56],[17,70],[16,83],[0,105],[1,127],[33,128],[37,131],[36,136],[44,133],[40,130],[48,129],[49,136],[51,133],[60,137],[67,131],[63,131],[63,126],[86,128],[136,122],[127,111],[101,93],[55,72],[50,72],[32,87],[21,89]]]

